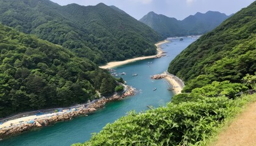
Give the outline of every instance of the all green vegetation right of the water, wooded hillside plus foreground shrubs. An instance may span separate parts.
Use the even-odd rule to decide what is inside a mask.
[[[245,105],[256,101],[256,2],[199,38],[169,66],[187,81],[166,107],[130,112],[90,141],[74,145],[207,145]]]

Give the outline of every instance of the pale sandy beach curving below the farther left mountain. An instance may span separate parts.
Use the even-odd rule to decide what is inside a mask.
[[[131,63],[131,62],[138,61],[138,60],[161,57],[163,54],[163,50],[161,49],[160,45],[164,44],[164,43],[168,43],[168,42],[169,42],[168,40],[164,40],[164,41],[160,41],[155,44],[155,46],[157,46],[157,55],[152,55],[152,56],[147,56],[147,57],[137,57],[137,58],[132,58],[129,60],[124,60],[124,61],[113,61],[113,62],[107,63],[107,65],[105,65],[105,66],[99,66],[99,68],[110,69],[110,68],[115,68],[116,66],[121,66],[123,64]]]

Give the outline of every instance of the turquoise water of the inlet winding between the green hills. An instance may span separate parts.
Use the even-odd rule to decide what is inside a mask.
[[[154,107],[165,106],[173,96],[168,91],[168,83],[165,80],[151,80],[151,75],[161,74],[166,71],[169,63],[183,49],[194,41],[194,38],[171,39],[171,43],[162,44],[167,52],[166,57],[136,61],[119,66],[116,72],[126,72],[121,75],[128,85],[137,88],[138,94],[127,97],[124,100],[107,103],[105,108],[88,117],[77,117],[67,122],[59,122],[51,127],[30,131],[19,136],[0,141],[0,145],[71,145],[77,142],[85,142],[91,137],[91,133],[98,133],[107,123],[112,123],[119,117],[125,116],[131,110],[145,111],[147,105]],[[150,67],[148,62],[152,62]],[[133,77],[132,74],[138,74]],[[156,91],[153,91],[157,88]]]

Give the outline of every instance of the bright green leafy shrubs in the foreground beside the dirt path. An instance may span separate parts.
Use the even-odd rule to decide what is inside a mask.
[[[256,96],[229,100],[213,97],[168,103],[146,113],[134,112],[107,124],[90,141],[78,145],[205,145],[208,137]]]

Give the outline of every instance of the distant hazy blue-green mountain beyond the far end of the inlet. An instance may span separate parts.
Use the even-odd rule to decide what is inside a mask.
[[[185,36],[200,35],[215,29],[229,16],[224,13],[208,11],[207,13],[196,13],[182,21],[169,18],[165,15],[157,15],[149,12],[140,21],[163,36]]]

